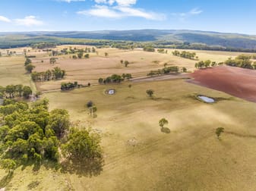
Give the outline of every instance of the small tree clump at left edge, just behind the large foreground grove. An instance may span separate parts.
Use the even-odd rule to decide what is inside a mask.
[[[15,97],[24,97],[28,99],[32,94],[32,90],[30,86],[23,86],[21,84],[18,85],[8,85],[8,86],[0,86],[0,98],[9,98],[13,99]]]

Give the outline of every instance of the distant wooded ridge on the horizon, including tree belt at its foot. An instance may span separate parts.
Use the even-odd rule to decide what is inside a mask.
[[[32,45],[36,49],[45,49],[67,44],[106,45],[117,49],[135,49],[144,48],[149,42],[155,49],[256,51],[256,36],[193,30],[0,33],[0,49],[27,45]]]

